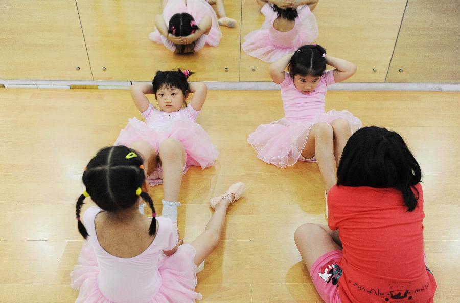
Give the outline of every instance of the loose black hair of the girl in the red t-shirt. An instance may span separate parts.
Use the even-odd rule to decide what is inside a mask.
[[[363,127],[350,137],[337,167],[337,185],[396,188],[408,211],[417,206],[415,185],[421,179],[420,165],[404,139],[376,126]]]

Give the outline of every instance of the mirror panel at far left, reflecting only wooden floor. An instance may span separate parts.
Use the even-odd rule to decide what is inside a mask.
[[[0,7],[0,79],[93,80],[74,0]]]

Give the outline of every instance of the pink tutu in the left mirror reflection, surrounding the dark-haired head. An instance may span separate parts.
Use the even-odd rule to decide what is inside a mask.
[[[186,5],[184,0],[169,0],[166,7],[163,9],[163,19],[165,20],[166,26],[169,25],[171,17],[177,13],[188,13],[192,15],[198,25],[203,17],[211,16],[211,30],[208,34],[203,34],[195,41],[195,52],[199,51],[205,44],[214,47],[219,45],[220,38],[222,38],[222,32],[219,28],[216,12],[208,2],[205,0],[187,0]],[[166,39],[165,36],[162,36],[158,29],[155,29],[154,32],[150,33],[149,37],[150,40],[154,42],[164,44],[170,51],[174,52],[176,50],[176,45]]]

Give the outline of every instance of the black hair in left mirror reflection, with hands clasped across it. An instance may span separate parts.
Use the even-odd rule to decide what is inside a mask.
[[[169,19],[168,33],[176,37],[187,37],[200,28],[192,15],[188,13],[177,13]],[[195,52],[195,41],[190,45],[176,45],[176,53],[186,54]]]

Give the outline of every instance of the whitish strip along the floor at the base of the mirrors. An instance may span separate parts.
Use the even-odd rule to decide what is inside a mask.
[[[132,82],[150,83],[150,82]],[[272,82],[204,82],[209,90],[265,91],[279,90]],[[129,89],[131,81],[68,81],[68,80],[0,80],[5,88],[68,88],[70,85],[98,85],[99,89]],[[332,91],[443,91],[460,92],[460,83],[356,83],[342,82],[331,85]]]

